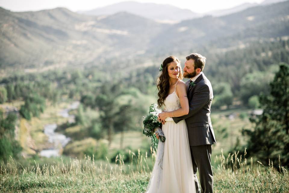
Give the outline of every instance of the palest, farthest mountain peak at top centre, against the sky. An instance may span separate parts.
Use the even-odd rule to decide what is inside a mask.
[[[189,9],[180,9],[172,5],[160,5],[155,3],[138,3],[133,1],[120,2],[117,4],[96,8],[90,11],[79,11],[78,13],[89,15],[111,15],[117,12],[128,12],[140,15],[152,20],[163,22],[177,22],[185,19],[200,17],[201,14],[194,13]]]

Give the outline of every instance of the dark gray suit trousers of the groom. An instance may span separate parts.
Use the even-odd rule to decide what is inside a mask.
[[[213,193],[212,145],[190,146],[197,193]],[[200,185],[197,178],[199,170]]]

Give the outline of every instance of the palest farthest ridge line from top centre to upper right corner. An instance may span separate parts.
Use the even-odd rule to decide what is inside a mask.
[[[214,17],[219,17],[223,15],[228,15],[243,11],[247,8],[260,6],[260,5],[270,5],[278,2],[284,2],[286,0],[264,0],[261,3],[243,3],[241,5],[234,6],[228,9],[212,10],[206,13],[196,13],[189,9],[177,8],[173,5],[168,4],[156,4],[156,3],[141,3],[135,1],[126,1],[115,3],[99,8],[94,8],[87,11],[77,11],[77,13],[87,14],[87,15],[110,15],[117,12],[126,11],[135,15],[140,15],[149,19],[153,19],[159,22],[171,21],[171,23],[177,23],[182,20],[194,19],[198,17],[203,17],[206,15],[212,15]],[[172,14],[173,13],[173,14]]]

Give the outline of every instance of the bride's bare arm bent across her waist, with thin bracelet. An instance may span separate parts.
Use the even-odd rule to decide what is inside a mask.
[[[170,111],[162,112],[159,114],[160,119],[165,120],[167,117],[179,117],[182,115],[187,115],[189,113],[189,102],[187,97],[187,86],[184,82],[179,82],[176,87],[176,93],[178,93],[181,108]]]

